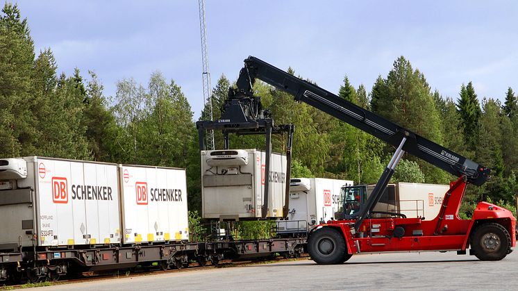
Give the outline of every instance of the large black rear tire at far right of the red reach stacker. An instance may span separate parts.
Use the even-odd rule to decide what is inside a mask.
[[[501,224],[486,223],[471,235],[471,249],[479,260],[501,260],[510,253],[511,236]]]

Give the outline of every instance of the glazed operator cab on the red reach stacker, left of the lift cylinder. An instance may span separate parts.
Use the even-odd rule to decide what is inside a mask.
[[[344,186],[340,190],[340,202],[335,217],[349,219],[356,217],[367,200],[367,185]]]

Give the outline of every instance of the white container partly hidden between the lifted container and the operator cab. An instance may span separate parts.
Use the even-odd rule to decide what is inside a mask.
[[[353,181],[329,178],[292,178],[290,212],[287,219],[304,221],[309,228],[334,217],[340,201],[340,190]],[[287,228],[301,228],[300,223],[285,223]],[[305,226],[305,225],[304,225]],[[283,227],[283,223],[279,224]]]

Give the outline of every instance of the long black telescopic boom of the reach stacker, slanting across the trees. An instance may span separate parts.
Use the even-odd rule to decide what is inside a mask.
[[[401,133],[408,133],[410,138],[403,145],[403,151],[455,176],[465,175],[470,183],[482,185],[489,178],[490,169],[253,56],[244,60],[237,78],[236,96],[253,98],[252,85],[256,78],[394,147],[399,146]]]

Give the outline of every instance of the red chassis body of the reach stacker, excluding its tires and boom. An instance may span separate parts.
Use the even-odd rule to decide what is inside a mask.
[[[314,228],[331,227],[345,237],[347,252],[377,253],[384,251],[465,251],[469,235],[477,224],[494,222],[510,233],[512,247],[516,245],[516,218],[512,213],[492,203],[478,203],[471,220],[460,219],[458,210],[467,182],[464,178],[450,183],[442,201],[440,213],[433,220],[421,218],[365,219],[358,232],[351,230],[355,220],[333,220]],[[398,235],[395,235],[394,230]],[[401,231],[403,228],[403,231]]]

